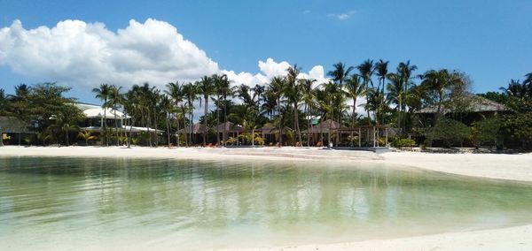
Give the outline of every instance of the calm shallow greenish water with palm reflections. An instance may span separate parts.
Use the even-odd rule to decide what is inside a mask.
[[[368,240],[529,224],[531,211],[531,184],[375,164],[0,158],[7,249]]]

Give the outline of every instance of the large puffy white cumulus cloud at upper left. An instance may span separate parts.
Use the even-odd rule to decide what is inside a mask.
[[[130,20],[117,32],[80,20],[25,29],[15,20],[0,29],[0,65],[27,77],[89,87],[103,82],[161,85],[219,72],[205,51],[156,19]]]

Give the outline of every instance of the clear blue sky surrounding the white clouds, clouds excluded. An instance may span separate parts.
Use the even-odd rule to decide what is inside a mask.
[[[418,73],[439,68],[466,72],[473,91],[486,92],[532,72],[530,13],[530,1],[0,0],[0,29],[12,27],[15,19],[26,30],[77,19],[103,23],[116,33],[129,27],[130,19],[140,24],[156,19],[176,27],[219,70],[268,77],[257,67],[267,58],[300,65],[303,72],[315,65],[328,72],[338,61],[358,65],[382,58],[393,70],[410,59]],[[35,72],[13,70],[18,59],[11,57],[9,64],[2,59],[1,39],[0,87],[12,92],[20,82],[59,76],[59,83],[74,87],[72,95],[95,102],[89,90],[96,84],[77,85],[75,77],[65,77],[67,72],[40,71],[38,65],[29,68]]]

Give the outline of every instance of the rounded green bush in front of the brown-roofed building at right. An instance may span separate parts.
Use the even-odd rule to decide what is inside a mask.
[[[438,124],[428,129],[425,133],[427,144],[432,141],[443,141],[447,147],[461,146],[469,138],[470,131],[467,125],[450,118],[442,118]]]

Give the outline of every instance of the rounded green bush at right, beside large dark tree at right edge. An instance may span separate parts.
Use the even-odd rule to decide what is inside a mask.
[[[473,122],[473,127],[471,128],[471,141],[473,142],[473,146],[478,148],[484,143],[489,146],[497,145],[500,127],[501,122],[498,118],[485,118]]]

